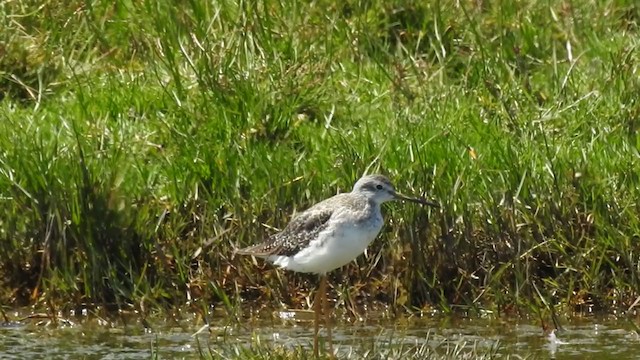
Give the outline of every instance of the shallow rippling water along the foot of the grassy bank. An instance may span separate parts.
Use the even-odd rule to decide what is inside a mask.
[[[0,324],[1,359],[149,359],[199,358],[199,349],[233,357],[234,349],[261,344],[310,347],[313,325],[296,321],[296,313],[279,319],[202,328],[197,321],[155,322],[145,329],[138,321],[88,320],[62,322],[26,320]],[[282,320],[281,318],[285,318]],[[535,322],[515,319],[432,317],[368,321],[334,326],[341,357],[359,358],[369,350],[423,346],[429,354],[457,358],[495,354],[536,359],[637,359],[640,336],[630,320],[582,317],[565,320],[557,334],[544,334]],[[371,350],[374,349],[374,350]],[[457,351],[457,352],[456,352]],[[390,356],[393,358],[393,356]]]

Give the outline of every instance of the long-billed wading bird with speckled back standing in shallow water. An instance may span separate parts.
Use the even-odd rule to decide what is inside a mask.
[[[348,264],[376,238],[384,220],[380,205],[391,200],[408,200],[438,207],[435,202],[397,193],[383,175],[366,175],[349,193],[335,195],[297,214],[281,232],[260,244],[237,250],[237,254],[264,258],[284,269],[320,276],[314,299],[313,348],[318,356],[320,312],[327,327],[333,354],[331,325],[326,311],[326,274]]]

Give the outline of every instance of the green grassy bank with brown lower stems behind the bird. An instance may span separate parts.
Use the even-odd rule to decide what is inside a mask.
[[[640,295],[634,1],[18,0],[0,21],[4,304],[302,307],[312,277],[233,249],[365,171],[442,209],[387,207],[333,274],[347,311]]]

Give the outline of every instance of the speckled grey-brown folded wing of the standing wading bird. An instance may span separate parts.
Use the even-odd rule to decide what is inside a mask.
[[[284,230],[272,235],[267,241],[240,249],[236,253],[259,257],[293,256],[327,228],[332,213],[330,208],[311,208],[294,217]]]

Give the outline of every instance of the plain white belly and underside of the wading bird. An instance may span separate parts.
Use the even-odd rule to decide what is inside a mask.
[[[288,270],[324,274],[360,256],[382,228],[382,217],[365,224],[334,223],[294,256],[270,256],[269,261]]]

